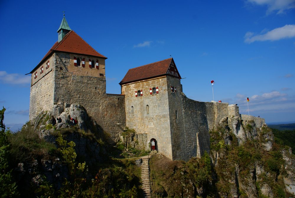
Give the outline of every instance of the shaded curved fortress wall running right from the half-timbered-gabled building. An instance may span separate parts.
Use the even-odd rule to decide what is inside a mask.
[[[265,120],[260,117],[239,114],[239,107],[224,102],[199,102],[187,98],[183,93],[183,138],[172,135],[172,139],[179,139],[182,149],[175,150],[175,159],[189,160],[191,157],[201,157],[210,151],[209,131],[216,128],[223,119],[242,121],[254,120],[256,127],[261,128]],[[172,144],[172,152],[174,151]]]

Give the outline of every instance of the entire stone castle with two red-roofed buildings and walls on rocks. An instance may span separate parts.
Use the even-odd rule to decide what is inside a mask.
[[[126,125],[144,149],[172,160],[208,152],[209,130],[223,119],[237,135],[242,121],[254,120],[257,128],[264,124],[263,118],[240,115],[237,105],[187,98],[173,58],[128,70],[119,83],[121,94],[107,94],[107,57],[71,30],[65,17],[57,32],[58,41],[30,72],[30,120],[56,104],[79,103],[114,142]]]

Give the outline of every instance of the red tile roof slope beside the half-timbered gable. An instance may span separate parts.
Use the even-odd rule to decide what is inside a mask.
[[[140,81],[143,79],[166,75],[169,65],[172,61],[174,62],[173,58],[169,58],[158,62],[150,63],[148,65],[132,68],[128,70],[125,77],[119,84],[122,85],[132,81]]]

